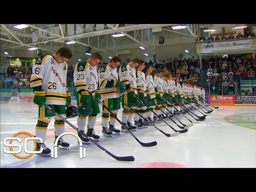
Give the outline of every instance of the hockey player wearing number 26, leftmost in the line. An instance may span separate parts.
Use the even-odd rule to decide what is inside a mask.
[[[70,92],[67,92],[67,61],[72,58],[71,50],[62,47],[54,54],[46,54],[39,57],[33,66],[33,74],[30,78],[30,87],[34,90],[34,103],[38,105],[38,119],[36,124],[36,137],[42,138],[43,142],[36,141],[36,150],[43,151],[39,155],[51,155],[51,150],[46,147],[44,141],[47,126],[51,122],[54,112],[66,118],[66,105],[70,105]],[[43,104],[52,110],[45,109]],[[65,122],[58,116],[54,116],[55,140],[65,132]],[[54,141],[55,142],[55,141]],[[69,143],[62,138],[58,145],[69,147]]]

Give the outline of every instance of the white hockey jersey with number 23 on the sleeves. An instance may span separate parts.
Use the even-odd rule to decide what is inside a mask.
[[[97,66],[92,66],[89,62],[78,62],[74,69],[74,84],[77,92],[87,90],[93,93],[98,88]]]

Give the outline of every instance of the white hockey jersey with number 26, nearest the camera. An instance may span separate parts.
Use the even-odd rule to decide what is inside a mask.
[[[45,91],[46,105],[66,105],[67,69],[66,62],[58,63],[50,54],[36,60],[30,87],[42,86],[39,90]]]

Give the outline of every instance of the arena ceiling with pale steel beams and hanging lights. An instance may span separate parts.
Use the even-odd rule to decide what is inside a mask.
[[[165,38],[196,37],[189,28],[172,29],[181,24],[25,24],[27,27],[18,29],[18,24],[1,24],[0,46],[1,55],[8,50],[27,50],[36,48],[47,52],[55,52],[68,41],[74,54],[85,50],[105,53],[116,53],[119,50],[143,46],[153,46],[159,36]],[[111,34],[122,34],[113,37]]]

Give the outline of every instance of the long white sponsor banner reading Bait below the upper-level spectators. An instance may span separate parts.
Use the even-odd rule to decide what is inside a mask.
[[[202,51],[214,51],[214,50],[227,50],[227,49],[243,49],[250,48],[250,40],[242,41],[229,41],[229,42],[217,42],[217,43],[202,43]]]

